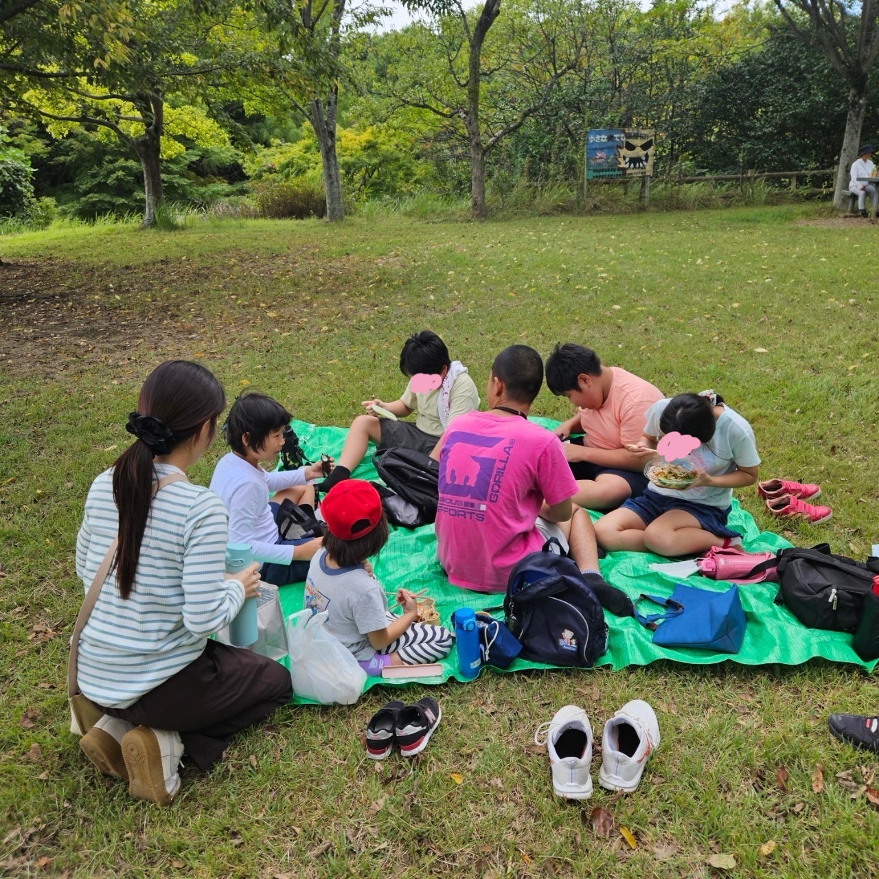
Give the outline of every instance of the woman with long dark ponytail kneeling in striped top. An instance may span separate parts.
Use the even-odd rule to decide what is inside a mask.
[[[177,794],[184,752],[207,770],[237,730],[291,696],[283,666],[208,640],[258,588],[256,564],[224,573],[226,510],[185,477],[225,405],[222,385],[199,364],[156,367],[128,416],[134,443],[92,483],[76,540],[86,591],[112,558],[71,648],[81,692],[105,712],[80,746],[153,803]]]

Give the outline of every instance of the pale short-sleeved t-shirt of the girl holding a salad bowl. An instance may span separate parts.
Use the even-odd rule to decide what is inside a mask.
[[[657,437],[662,432],[659,430],[659,417],[671,400],[660,400],[653,403],[647,410],[647,425],[644,433],[650,437]],[[760,462],[757,454],[757,445],[754,442],[754,432],[751,425],[742,418],[737,411],[723,406],[723,412],[717,418],[715,435],[709,443],[702,443],[694,452],[686,456],[686,460],[693,463],[698,469],[704,470],[708,476],[723,476],[732,473],[737,467],[756,467]],[[732,489],[716,488],[713,485],[700,485],[694,489],[661,489],[658,485],[647,487],[649,491],[665,495],[667,498],[681,498],[682,500],[694,501],[696,504],[719,506],[725,510],[732,503]]]

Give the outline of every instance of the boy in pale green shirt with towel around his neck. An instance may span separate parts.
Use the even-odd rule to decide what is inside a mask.
[[[439,440],[453,418],[479,408],[479,394],[467,367],[451,360],[446,343],[430,330],[406,339],[400,352],[400,372],[409,383],[393,403],[364,400],[368,415],[354,418],[342,454],[330,476],[318,483],[319,491],[348,479],[367,453],[369,441],[379,448],[414,448],[439,461]],[[379,417],[374,407],[396,418]],[[396,420],[415,412],[415,424]]]

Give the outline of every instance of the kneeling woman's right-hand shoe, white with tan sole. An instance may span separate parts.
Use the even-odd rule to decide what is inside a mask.
[[[122,756],[128,770],[128,793],[150,803],[169,805],[180,789],[180,734],[149,726],[134,727],[122,739]]]

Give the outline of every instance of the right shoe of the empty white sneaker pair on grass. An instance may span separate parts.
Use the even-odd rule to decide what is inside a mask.
[[[656,712],[643,699],[626,702],[605,723],[599,784],[608,790],[635,790],[647,759],[658,747]]]

